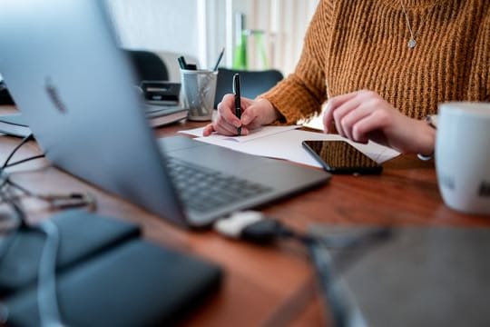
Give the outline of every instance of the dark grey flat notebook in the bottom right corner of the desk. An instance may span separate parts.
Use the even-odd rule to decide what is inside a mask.
[[[490,228],[397,228],[376,246],[330,253],[358,326],[490,326]]]

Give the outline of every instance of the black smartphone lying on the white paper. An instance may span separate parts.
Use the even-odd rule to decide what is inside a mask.
[[[303,141],[303,146],[329,173],[381,173],[383,167],[345,141]]]

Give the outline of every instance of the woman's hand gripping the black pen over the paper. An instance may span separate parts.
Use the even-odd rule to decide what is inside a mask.
[[[250,130],[265,124],[271,124],[279,118],[279,112],[266,99],[251,100],[241,98],[241,119],[235,115],[235,95],[226,94],[218,104],[218,114],[211,124],[204,127],[203,135],[213,132],[223,135],[236,135],[241,126],[241,134],[247,135]]]

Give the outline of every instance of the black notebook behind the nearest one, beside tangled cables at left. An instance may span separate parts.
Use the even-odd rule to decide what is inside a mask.
[[[53,222],[60,236],[58,272],[140,234],[140,228],[134,223],[78,210],[59,213]],[[0,240],[0,295],[34,284],[45,243],[44,233],[19,230],[7,233]]]

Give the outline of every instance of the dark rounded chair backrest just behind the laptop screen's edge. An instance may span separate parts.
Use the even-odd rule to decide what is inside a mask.
[[[168,81],[169,73],[160,56],[145,50],[125,50],[140,81]]]

